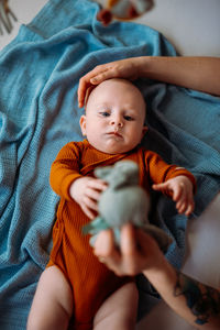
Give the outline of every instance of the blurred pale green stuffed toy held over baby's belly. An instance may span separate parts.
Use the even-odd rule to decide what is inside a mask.
[[[139,167],[132,161],[120,161],[113,166],[97,167],[95,175],[108,183],[108,188],[99,200],[99,216],[84,228],[84,233],[90,233],[90,244],[94,245],[97,234],[111,228],[116,243],[120,241],[120,229],[131,222],[150,233],[166,252],[172,239],[160,228],[150,224],[150,196],[139,185]]]

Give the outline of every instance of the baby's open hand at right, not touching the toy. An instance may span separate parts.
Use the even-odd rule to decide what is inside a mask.
[[[189,216],[194,211],[194,187],[187,176],[176,176],[164,184],[153,185],[152,188],[172,195],[179,213]]]

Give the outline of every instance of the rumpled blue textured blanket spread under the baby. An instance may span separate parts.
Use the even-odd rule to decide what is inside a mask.
[[[48,260],[58,197],[48,183],[59,148],[82,139],[79,78],[98,64],[131,56],[176,56],[156,31],[134,23],[103,28],[98,4],[51,0],[0,53],[0,328],[25,329]],[[220,190],[220,99],[142,79],[150,132],[144,144],[198,179],[197,217]],[[174,239],[167,258],[184,255],[187,219],[157,198],[156,222]],[[190,220],[189,220],[190,221]]]

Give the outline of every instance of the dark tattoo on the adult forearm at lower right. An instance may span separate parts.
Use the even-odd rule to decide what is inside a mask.
[[[217,289],[177,273],[174,296],[180,295],[185,296],[188,308],[196,316],[197,324],[205,324],[210,317],[220,314],[220,293]]]

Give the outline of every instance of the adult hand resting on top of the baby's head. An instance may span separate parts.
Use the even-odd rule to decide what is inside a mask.
[[[134,80],[139,77],[141,57],[127,58],[96,66],[79,80],[78,105],[84,107],[89,87],[99,85],[110,78],[124,78]]]

